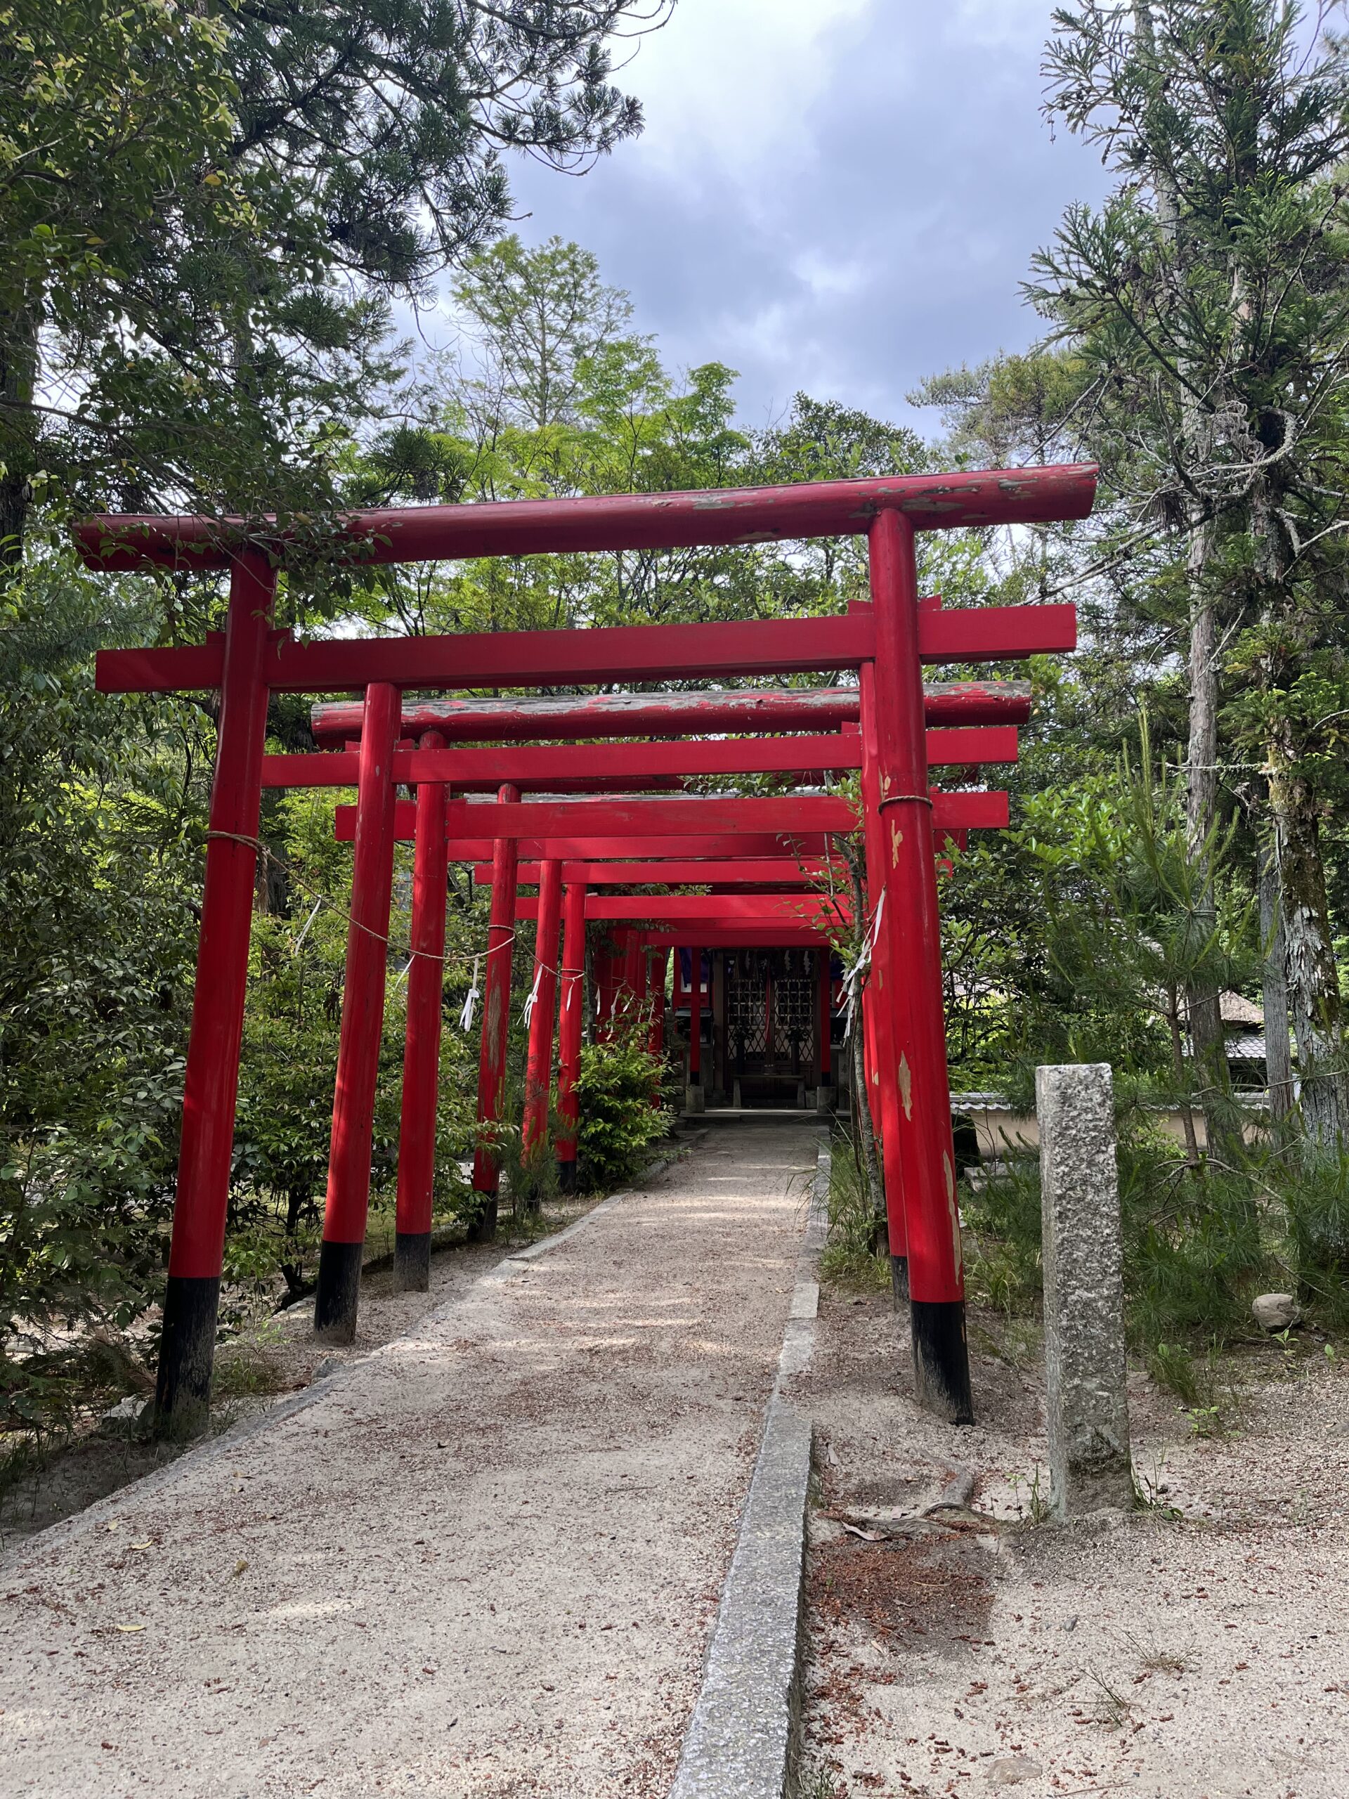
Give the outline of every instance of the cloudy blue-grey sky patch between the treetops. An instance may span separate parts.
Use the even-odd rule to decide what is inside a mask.
[[[797,389],[917,423],[923,374],[1034,338],[1029,255],[1106,185],[1040,115],[1050,4],[678,0],[621,77],[644,135],[520,166],[520,232],[595,250],[669,365],[739,369],[748,423]]]

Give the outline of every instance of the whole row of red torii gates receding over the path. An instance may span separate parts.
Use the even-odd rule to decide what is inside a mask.
[[[315,1297],[320,1333],[349,1340],[356,1324],[399,837],[412,837],[415,849],[398,1259],[415,1283],[430,1245],[450,860],[473,862],[477,878],[491,883],[473,1173],[489,1231],[516,921],[534,916],[538,925],[523,1148],[540,1151],[545,1142],[559,1020],[558,1153],[570,1162],[586,921],[604,919],[619,937],[617,953],[612,948],[595,964],[610,1016],[624,988],[644,988],[639,970],[649,952],[664,964],[666,952],[683,946],[802,946],[820,952],[827,970],[829,932],[847,907],[822,889],[835,838],[862,829],[867,1090],[881,1128],[890,1256],[907,1270],[916,1394],[951,1421],[971,1419],[937,856],[944,837],[1005,824],[1007,795],[943,793],[932,788],[930,768],[1013,761],[1029,689],[1020,682],[925,687],[923,667],[1072,649],[1076,619],[1072,606],[946,612],[939,599],[923,601],[914,540],[917,531],[1083,518],[1094,493],[1095,470],[1077,464],[354,513],[344,520],[353,565],[865,534],[871,599],[842,617],[317,642],[273,630],[277,579],[297,541],[282,529],[259,534],[178,516],[103,516],[79,527],[90,567],[219,568],[230,577],[223,633],[185,648],[103,651],[97,666],[104,693],[219,693],[156,1385],[160,1430],[191,1427],[210,1392],[263,788],[327,784],[354,786],[356,806],[338,810],[338,835],[353,838],[354,860]],[[691,685],[840,671],[851,671],[856,685]],[[473,698],[484,689],[671,680],[689,685]],[[317,739],[338,747],[270,757],[266,714],[275,691],[363,698],[315,707]],[[426,698],[437,693],[448,696]],[[818,779],[847,770],[860,774],[856,810],[829,793],[680,792],[692,777]],[[415,804],[399,801],[399,786],[415,788]],[[640,883],[712,891],[604,892]],[[538,898],[523,900],[520,885],[534,885]],[[700,1004],[696,968],[694,961],[691,1000]],[[824,980],[820,991],[827,1007]],[[691,1038],[696,1043],[692,1031]]]

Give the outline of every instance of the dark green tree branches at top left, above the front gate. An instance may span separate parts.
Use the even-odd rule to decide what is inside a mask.
[[[640,128],[608,41],[664,0],[0,11],[0,540],[43,497],[320,509],[424,295],[509,216],[502,151]]]

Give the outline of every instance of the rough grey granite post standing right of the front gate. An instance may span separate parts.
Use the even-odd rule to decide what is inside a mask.
[[[1133,1506],[1108,1061],[1036,1069],[1054,1513]]]

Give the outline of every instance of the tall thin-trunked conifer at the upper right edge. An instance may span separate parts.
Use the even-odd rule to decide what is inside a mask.
[[[1318,741],[1340,693],[1327,595],[1349,524],[1349,88],[1344,49],[1304,56],[1299,29],[1299,7],[1277,0],[1058,11],[1049,110],[1121,183],[1099,212],[1068,210],[1027,291],[1085,369],[1083,417],[1112,448],[1133,525],[1178,545],[1196,860],[1218,817],[1223,718],[1227,743],[1268,768],[1302,1115],[1327,1144],[1349,1132]],[[1196,988],[1189,1011],[1221,1083],[1216,993]]]

